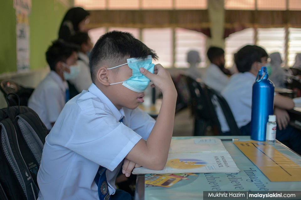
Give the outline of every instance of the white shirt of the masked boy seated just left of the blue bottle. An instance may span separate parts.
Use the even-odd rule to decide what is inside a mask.
[[[238,128],[251,122],[252,88],[255,80],[256,76],[250,72],[234,74],[221,92],[231,108]],[[217,113],[222,131],[229,131],[230,129],[221,109],[218,109]]]

